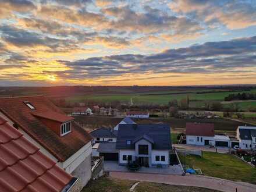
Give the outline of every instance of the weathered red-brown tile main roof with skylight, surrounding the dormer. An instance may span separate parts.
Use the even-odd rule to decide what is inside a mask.
[[[29,101],[35,109],[30,109],[24,101]],[[90,134],[75,122],[72,123],[72,131],[61,137],[36,118],[32,113],[57,112],[65,115],[44,96],[0,98],[0,111],[61,162],[92,139]]]

